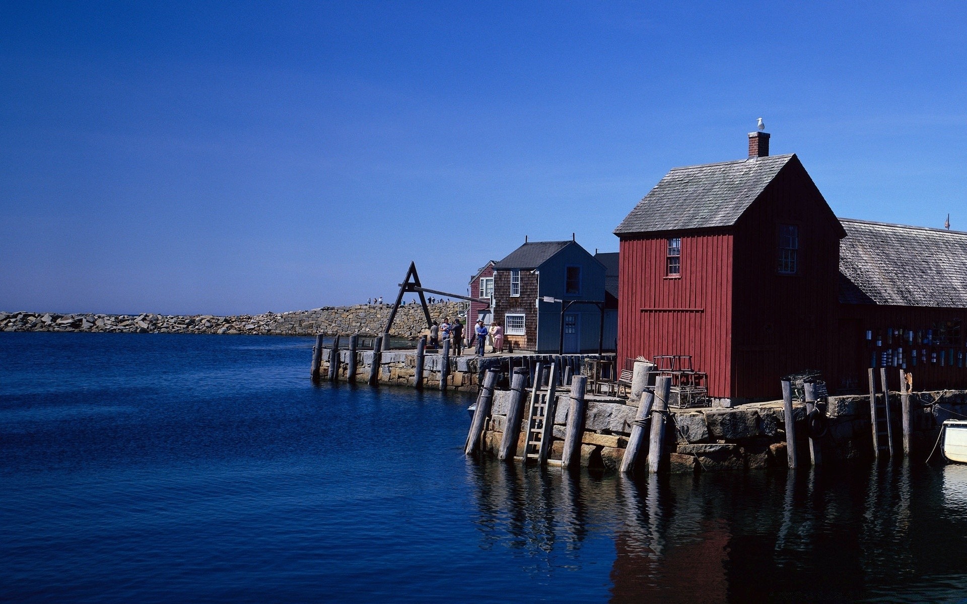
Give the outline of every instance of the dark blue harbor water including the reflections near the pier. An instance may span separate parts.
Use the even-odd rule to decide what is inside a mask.
[[[967,466],[466,460],[468,400],[310,338],[0,333],[0,600],[967,601]]]

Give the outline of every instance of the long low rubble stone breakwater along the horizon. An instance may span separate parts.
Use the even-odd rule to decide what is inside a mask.
[[[460,302],[430,304],[430,316],[456,317]],[[312,310],[266,312],[258,315],[112,315],[52,312],[0,312],[0,331],[117,331],[128,333],[251,333],[261,335],[315,335],[359,333],[378,335],[385,329],[392,306],[357,304],[324,306]],[[426,330],[419,304],[400,306],[393,331],[396,337],[417,337]]]

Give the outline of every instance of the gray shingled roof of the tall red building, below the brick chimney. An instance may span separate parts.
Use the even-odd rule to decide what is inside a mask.
[[[795,154],[672,168],[614,234],[731,226],[793,158]]]

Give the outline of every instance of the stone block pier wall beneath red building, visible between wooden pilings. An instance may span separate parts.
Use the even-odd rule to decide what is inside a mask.
[[[554,417],[550,458],[561,459],[569,393],[559,397]],[[882,396],[882,395],[881,395]],[[495,393],[484,432],[484,451],[496,454],[507,425],[510,392]],[[591,399],[581,440],[581,464],[614,471],[621,465],[637,407],[622,399]],[[868,396],[832,396],[825,408],[828,430],[820,438],[823,463],[841,463],[873,456]],[[900,402],[891,393],[894,451],[902,454]],[[911,393],[913,455],[923,459],[936,442],[945,419],[967,416],[967,391]],[[793,404],[800,467],[808,467],[806,406]],[[526,415],[526,413],[525,413]],[[786,468],[785,416],[781,401],[743,405],[733,409],[672,410],[666,423],[664,467],[672,473],[720,472],[769,467]],[[523,450],[521,426],[517,451]],[[646,444],[647,447],[647,444]],[[642,456],[646,452],[641,453]],[[644,463],[644,457],[642,457]]]

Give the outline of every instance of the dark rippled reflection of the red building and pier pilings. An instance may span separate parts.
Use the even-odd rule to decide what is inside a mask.
[[[582,544],[609,538],[612,602],[926,601],[967,585],[967,466],[635,479],[468,468],[484,547],[579,568]]]

